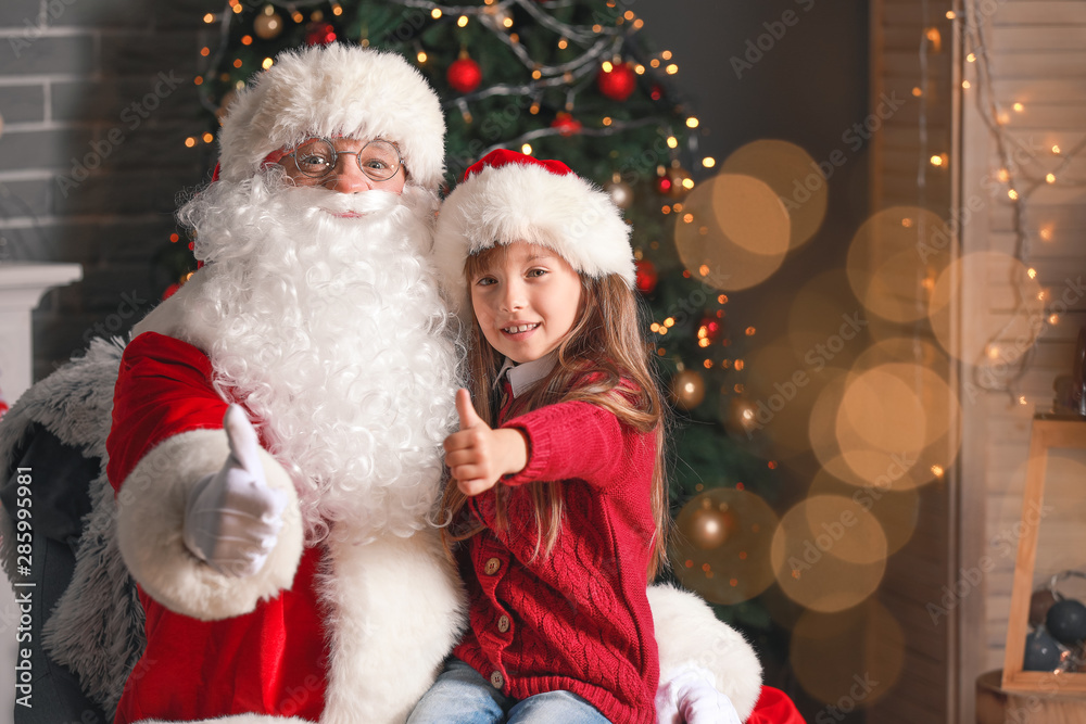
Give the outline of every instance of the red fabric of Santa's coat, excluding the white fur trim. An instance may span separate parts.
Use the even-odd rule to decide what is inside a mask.
[[[211,378],[207,356],[180,340],[149,332],[128,345],[106,443],[110,482],[118,496],[136,465],[163,441],[222,429],[227,404]],[[147,649],[125,686],[117,724],[247,712],[317,721],[327,674],[314,581],[320,555],[319,548],[306,548],[289,589],[223,621],[176,613],[141,586]]]

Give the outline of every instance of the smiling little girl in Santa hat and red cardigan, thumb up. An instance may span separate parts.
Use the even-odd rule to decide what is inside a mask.
[[[475,313],[443,500],[470,625],[412,723],[656,722],[664,424],[629,233],[565,165],[509,151],[442,206],[434,254]]]

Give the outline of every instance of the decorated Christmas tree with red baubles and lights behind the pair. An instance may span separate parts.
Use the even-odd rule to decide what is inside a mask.
[[[636,13],[617,0],[230,0],[204,22],[218,30],[195,78],[211,113],[191,144],[212,148],[212,115],[280,51],[351,42],[402,53],[444,100],[450,188],[507,148],[558,158],[610,194],[633,227],[646,332],[677,408],[669,575],[783,659],[782,632],[758,598],[773,582],[775,465],[754,449],[755,410],[735,378],[755,330],[728,323],[725,269],[690,254],[684,263],[677,249],[675,226],[696,220],[684,209],[690,169],[704,176],[715,161],[697,152],[702,129],[679,98],[672,53],[652,48]]]

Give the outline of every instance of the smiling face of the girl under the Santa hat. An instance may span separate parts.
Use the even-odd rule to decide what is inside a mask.
[[[518,364],[555,350],[581,306],[581,279],[573,267],[550,249],[523,241],[493,254],[468,283],[487,341]]]

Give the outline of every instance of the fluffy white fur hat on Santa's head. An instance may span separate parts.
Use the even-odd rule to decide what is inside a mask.
[[[247,179],[268,154],[314,136],[392,141],[424,188],[444,173],[445,119],[422,75],[395,53],[332,43],[281,53],[239,91],[219,134],[219,176]]]

